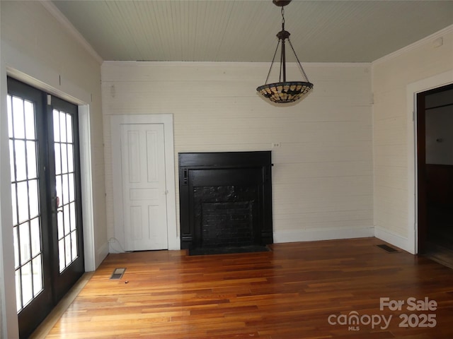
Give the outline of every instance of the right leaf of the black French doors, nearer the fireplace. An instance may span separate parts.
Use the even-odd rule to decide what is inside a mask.
[[[84,273],[84,244],[77,107],[57,97],[51,101],[47,117],[53,130],[48,133],[52,244],[58,252],[52,267],[59,300]]]

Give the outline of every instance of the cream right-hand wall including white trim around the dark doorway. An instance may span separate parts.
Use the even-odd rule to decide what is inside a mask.
[[[374,227],[416,253],[415,93],[453,83],[453,26],[372,64]]]

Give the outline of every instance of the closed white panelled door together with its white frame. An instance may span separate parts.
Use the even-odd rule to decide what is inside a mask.
[[[110,117],[115,236],[111,251],[180,249],[173,115]]]

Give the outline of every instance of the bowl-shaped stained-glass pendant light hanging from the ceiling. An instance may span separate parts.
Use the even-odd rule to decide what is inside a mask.
[[[289,4],[291,0],[273,0],[273,4],[276,6],[281,7],[282,11],[282,30],[277,33],[278,42],[277,48],[275,49],[274,57],[272,59],[272,63],[270,64],[270,69],[268,73],[268,77],[266,78],[265,85],[261,85],[256,90],[266,97],[272,102],[276,102],[278,104],[287,103],[287,102],[294,102],[309,93],[309,91],[313,88],[313,83],[310,83],[309,79],[306,76],[302,65],[300,64],[299,58],[297,57],[296,52],[294,51],[294,47],[292,47],[291,40],[289,40],[289,32],[285,30],[285,9],[284,7]],[[296,57],[297,64],[299,65],[299,69],[302,71],[302,75],[304,76],[305,81],[287,81],[286,80],[286,55],[285,55],[285,40],[288,40],[289,46],[294,53],[294,57]],[[272,66],[274,64],[275,55],[277,54],[278,47],[281,44],[280,50],[280,76],[278,79],[278,83],[268,83],[270,71],[272,70]]]

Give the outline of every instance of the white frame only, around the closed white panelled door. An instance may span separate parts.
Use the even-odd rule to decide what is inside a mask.
[[[112,182],[113,185],[113,224],[115,239],[124,249],[124,217],[122,210],[122,173],[121,173],[121,140],[122,124],[164,124],[165,143],[165,180],[167,189],[167,237],[168,249],[180,249],[176,225],[176,185],[175,185],[175,156],[173,146],[173,114],[121,114],[110,116],[111,145],[112,145]]]

